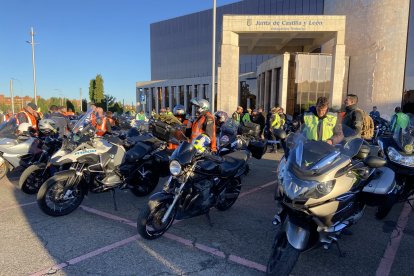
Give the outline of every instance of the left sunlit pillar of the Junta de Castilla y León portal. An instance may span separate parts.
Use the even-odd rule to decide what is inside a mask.
[[[220,74],[217,110],[231,114],[239,102],[239,35],[228,30],[222,31]]]

